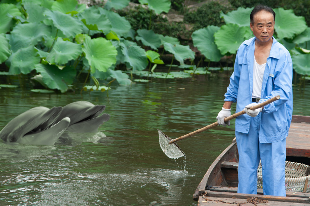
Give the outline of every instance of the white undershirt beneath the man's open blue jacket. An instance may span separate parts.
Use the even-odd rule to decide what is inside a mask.
[[[266,63],[258,64],[254,55],[254,66],[253,66],[253,92],[252,98],[260,98],[262,93],[263,76],[265,71]]]

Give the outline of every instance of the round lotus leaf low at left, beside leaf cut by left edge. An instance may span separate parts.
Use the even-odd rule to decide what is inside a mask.
[[[40,62],[37,50],[30,45],[26,48],[20,48],[17,52],[13,53],[6,64],[9,66],[10,74],[29,74],[34,65]]]

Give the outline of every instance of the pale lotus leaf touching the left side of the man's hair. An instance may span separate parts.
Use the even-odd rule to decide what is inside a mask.
[[[224,14],[220,11],[220,17],[224,18],[226,23],[235,23],[240,27],[250,27],[250,14],[253,8],[243,8],[239,7],[235,11],[230,11],[227,14]]]

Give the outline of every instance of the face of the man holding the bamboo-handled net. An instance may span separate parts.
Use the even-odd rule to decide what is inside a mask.
[[[268,42],[273,36],[274,20],[272,13],[259,11],[253,16],[253,24],[250,23],[251,30],[256,40]]]

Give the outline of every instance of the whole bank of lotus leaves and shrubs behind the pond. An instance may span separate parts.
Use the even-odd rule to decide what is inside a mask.
[[[33,92],[65,93],[77,80],[84,82],[81,93],[103,92],[115,84],[233,70],[237,48],[253,36],[249,6],[257,3],[265,2],[4,0],[1,87],[11,87],[17,75],[36,82]],[[299,3],[268,6],[276,12],[274,36],[291,53],[294,82],[303,85],[310,74],[310,5]]]

